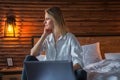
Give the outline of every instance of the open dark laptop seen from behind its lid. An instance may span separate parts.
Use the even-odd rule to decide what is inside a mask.
[[[71,61],[26,61],[28,80],[76,80]]]

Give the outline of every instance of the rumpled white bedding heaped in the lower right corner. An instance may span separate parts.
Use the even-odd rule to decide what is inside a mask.
[[[84,69],[88,73],[88,80],[120,80],[120,59],[102,60]]]

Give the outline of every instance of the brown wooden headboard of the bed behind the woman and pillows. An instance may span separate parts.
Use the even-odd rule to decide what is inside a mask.
[[[104,53],[120,53],[120,36],[119,35],[75,35],[81,45],[100,42],[102,58]],[[32,46],[37,42],[40,36],[32,37]]]

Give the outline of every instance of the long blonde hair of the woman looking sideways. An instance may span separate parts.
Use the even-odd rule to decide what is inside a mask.
[[[59,7],[51,7],[45,10],[50,16],[53,17],[54,31],[64,35],[67,33],[67,27],[65,26],[65,20],[62,11]]]

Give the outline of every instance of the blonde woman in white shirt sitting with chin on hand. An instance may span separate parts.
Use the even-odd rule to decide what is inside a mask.
[[[25,61],[37,60],[36,56],[46,52],[46,60],[71,60],[78,80],[86,80],[86,72],[82,70],[82,48],[75,36],[68,32],[60,8],[51,7],[45,10],[44,32],[35,46],[31,56]],[[25,70],[22,75],[26,80]]]

